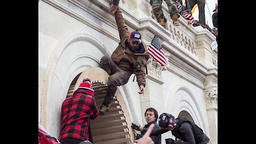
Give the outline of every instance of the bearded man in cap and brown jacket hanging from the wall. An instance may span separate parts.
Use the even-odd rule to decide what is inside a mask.
[[[118,9],[119,1],[113,1],[110,12],[115,12],[116,25],[120,41],[111,58],[103,56],[100,67],[110,75],[108,78],[107,95],[100,106],[100,115],[104,115],[110,109],[110,103],[116,93],[117,86],[126,84],[132,74],[137,77],[139,93],[145,93],[146,76],[146,45],[141,41],[139,31],[129,34],[125,25],[122,12]]]

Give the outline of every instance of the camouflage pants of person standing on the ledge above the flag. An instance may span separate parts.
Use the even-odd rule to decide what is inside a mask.
[[[178,9],[176,7],[176,1],[175,0],[164,0],[168,6],[168,10],[170,12],[170,17],[172,18],[172,15],[175,13],[178,13]],[[157,20],[160,18],[164,19],[166,22],[166,18],[164,17],[164,12],[162,9],[162,2],[163,0],[150,0],[150,5],[152,6],[153,13]]]

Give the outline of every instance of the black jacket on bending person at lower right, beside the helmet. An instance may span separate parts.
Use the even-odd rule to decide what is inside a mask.
[[[206,144],[209,138],[203,130],[193,122],[190,122],[185,117],[178,117],[177,126],[172,131],[175,138],[181,139],[184,142],[176,142],[177,144]]]

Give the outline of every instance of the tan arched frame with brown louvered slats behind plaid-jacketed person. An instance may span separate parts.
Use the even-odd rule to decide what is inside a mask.
[[[94,98],[98,108],[100,108],[103,97],[107,93],[105,86],[97,83],[100,81],[108,85],[108,73],[99,67],[90,67],[85,69],[77,78],[74,85],[70,85],[72,93],[77,90],[82,83],[83,78],[90,78],[93,83]],[[94,82],[97,84],[94,85]],[[68,97],[68,95],[67,95]],[[119,88],[117,88],[115,97],[111,102],[111,107],[108,113],[90,120],[91,130],[93,133],[94,143],[122,143],[134,141],[133,130],[130,128],[132,124],[129,104],[126,103],[125,97],[122,95]],[[99,120],[98,120],[99,119]],[[128,127],[129,126],[129,127]]]

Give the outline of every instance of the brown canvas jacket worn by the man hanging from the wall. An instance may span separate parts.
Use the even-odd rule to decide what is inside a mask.
[[[121,42],[119,42],[116,50],[111,55],[111,59],[116,62],[118,67],[129,71],[131,74],[135,74],[139,86],[145,86],[145,69],[147,61],[145,55],[148,53],[148,50],[145,49],[146,45],[141,41],[143,48],[145,49],[144,53],[132,53],[129,49],[125,49],[125,40],[130,37],[130,33],[127,30],[122,12],[119,9],[115,12],[115,18]],[[138,55],[144,56],[142,59],[142,66],[139,70],[137,62]]]

